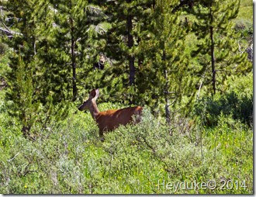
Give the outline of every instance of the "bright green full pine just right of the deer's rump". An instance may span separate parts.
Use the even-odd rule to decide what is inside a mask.
[[[144,67],[140,67],[140,92],[147,104],[164,103],[167,123],[170,123],[170,106],[182,105],[182,96],[193,94],[189,76],[189,60],[184,54],[186,29],[174,9],[179,1],[158,0],[152,16],[148,40],[143,40]]]

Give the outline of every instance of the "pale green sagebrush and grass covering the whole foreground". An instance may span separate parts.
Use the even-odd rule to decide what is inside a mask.
[[[100,105],[111,108],[111,104]],[[61,124],[42,130],[34,142],[0,124],[2,193],[234,193],[253,191],[251,130],[220,116],[218,126],[184,130],[188,119],[176,116],[172,136],[148,109],[136,126],[120,126],[99,139],[89,113],[71,113]],[[202,137],[202,139],[201,139]],[[201,144],[202,143],[202,144]],[[208,181],[214,190],[158,187],[158,181]],[[245,181],[247,188],[220,189],[220,180]]]

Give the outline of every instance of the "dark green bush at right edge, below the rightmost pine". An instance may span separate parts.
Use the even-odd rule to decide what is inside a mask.
[[[240,119],[249,126],[253,124],[252,74],[244,78],[229,79],[232,86],[225,95],[202,97],[195,105],[195,114],[207,126],[216,126],[220,114]]]

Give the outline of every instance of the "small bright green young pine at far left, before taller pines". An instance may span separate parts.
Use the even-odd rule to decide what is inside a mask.
[[[8,81],[5,100],[9,100],[9,115],[17,117],[21,122],[23,136],[35,140],[40,130],[47,127],[53,119],[65,119],[68,105],[61,102],[54,107],[51,95],[47,96],[44,105],[39,102],[34,88],[32,67],[33,64],[26,65],[19,56],[16,72],[12,73],[12,81]]]

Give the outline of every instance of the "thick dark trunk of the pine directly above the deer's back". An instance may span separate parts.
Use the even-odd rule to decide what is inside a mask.
[[[133,47],[133,35],[131,31],[133,29],[132,16],[127,16],[127,30],[128,30],[128,47],[131,49]],[[135,81],[135,67],[134,67],[134,56],[129,55],[129,69],[130,69],[130,77],[129,77],[129,85],[133,85]]]

